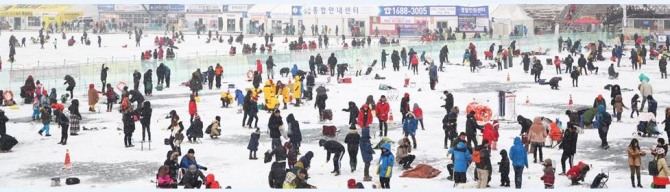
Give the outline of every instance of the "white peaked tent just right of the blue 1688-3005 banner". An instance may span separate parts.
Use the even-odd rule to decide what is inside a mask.
[[[533,18],[528,16],[528,13],[519,5],[498,5],[490,17],[494,35],[508,36],[517,25],[526,26],[528,35],[533,35],[535,28]]]

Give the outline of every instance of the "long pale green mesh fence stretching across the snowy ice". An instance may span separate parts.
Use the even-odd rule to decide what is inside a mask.
[[[436,64],[439,64],[439,52],[443,46],[447,45],[449,48],[448,58],[451,63],[461,63],[463,60],[463,54],[465,49],[470,43],[473,43],[477,47],[480,57],[483,59],[485,50],[489,49],[489,46],[495,43],[495,50],[498,50],[498,45],[503,45],[504,48],[507,48],[512,41],[516,41],[517,49],[521,49],[523,52],[539,50],[539,49],[558,49],[558,36],[559,35],[542,35],[542,36],[529,36],[529,37],[517,37],[517,38],[496,38],[496,39],[468,39],[468,40],[455,40],[455,41],[441,41],[441,42],[401,42],[400,45],[373,45],[366,46],[363,48],[353,48],[349,47],[348,49],[343,49],[341,46],[333,47],[329,49],[318,49],[318,50],[305,50],[305,51],[276,51],[272,53],[275,64],[275,73],[279,75],[279,69],[283,67],[291,68],[294,64],[298,68],[303,70],[309,69],[309,58],[310,56],[321,54],[323,57],[324,63],[327,62],[328,57],[331,53],[335,54],[335,57],[338,60],[338,63],[349,63],[354,64],[356,59],[361,59],[363,63],[369,65],[374,60],[379,61],[381,59],[382,50],[386,50],[386,53],[389,54],[387,57],[387,64],[391,65],[390,54],[393,50],[400,50],[404,47],[409,51],[414,49],[419,55],[423,51],[426,52],[426,56],[431,57]],[[586,45],[589,42],[595,42],[597,40],[607,40],[612,42],[614,38],[618,38],[618,34],[608,34],[608,33],[570,33],[570,34],[560,34],[564,40],[571,38],[573,41],[582,40],[582,45]],[[97,57],[97,58],[85,58],[82,61],[39,61],[37,66],[32,68],[22,68],[14,69],[10,72],[10,89],[15,92],[24,84],[25,79],[32,75],[35,80],[40,80],[40,82],[45,85],[48,89],[57,88],[57,90],[64,90],[66,86],[63,85],[63,77],[65,75],[71,75],[77,81],[76,91],[81,91],[85,93],[88,88],[88,84],[95,84],[96,87],[100,88],[100,71],[102,64],[109,67],[107,82],[115,85],[118,82],[125,82],[128,85],[132,84],[132,73],[135,70],[138,70],[140,73],[144,74],[149,69],[152,69],[154,79],[156,78],[156,67],[159,64],[163,63],[170,68],[171,71],[171,84],[178,85],[181,82],[188,81],[191,74],[196,69],[201,69],[202,72],[206,71],[209,66],[216,66],[217,63],[221,64],[224,68],[224,80],[230,77],[246,77],[247,73],[250,70],[255,70],[256,60],[260,59],[265,68],[265,60],[270,56],[270,54],[253,54],[253,55],[228,55],[219,52],[207,52],[207,51],[191,51],[181,50],[177,53],[174,59],[166,60],[149,60],[149,61],[140,61],[139,57]],[[156,80],[153,81],[154,84]],[[6,89],[7,87],[2,87]]]

